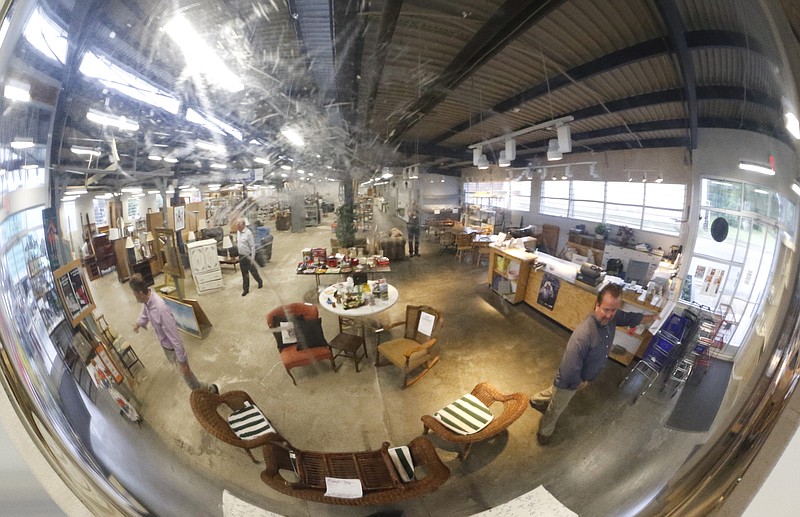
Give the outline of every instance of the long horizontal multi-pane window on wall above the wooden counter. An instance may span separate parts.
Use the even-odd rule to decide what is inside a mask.
[[[545,181],[539,213],[678,235],[686,185],[621,181]]]

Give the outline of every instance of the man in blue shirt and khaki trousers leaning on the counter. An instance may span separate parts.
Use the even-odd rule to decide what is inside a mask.
[[[531,397],[531,407],[544,413],[536,433],[540,445],[550,443],[558,417],[575,393],[586,388],[600,375],[614,342],[616,328],[650,324],[656,319],[652,314],[645,316],[638,312],[621,311],[621,305],[622,289],[618,285],[608,284],[600,290],[594,311],[575,328],[569,338],[553,385]]]

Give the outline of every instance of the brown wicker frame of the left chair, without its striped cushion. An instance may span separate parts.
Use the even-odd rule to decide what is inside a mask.
[[[250,459],[253,460],[253,463],[258,463],[258,461],[253,456],[253,453],[250,452],[250,449],[261,447],[272,440],[283,441],[283,438],[277,432],[259,436],[252,440],[242,440],[231,430],[228,421],[219,414],[218,408],[224,404],[232,411],[235,411],[237,409],[242,409],[245,401],[256,405],[253,399],[250,398],[250,395],[244,391],[229,391],[217,395],[207,391],[194,390],[192,391],[190,401],[194,417],[200,422],[203,429],[208,431],[210,435],[227,444],[244,449],[247,455],[250,456]]]

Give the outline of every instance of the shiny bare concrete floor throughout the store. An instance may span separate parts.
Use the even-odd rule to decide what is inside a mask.
[[[379,227],[401,224],[380,213],[376,218]],[[293,370],[293,386],[273,337],[265,331],[265,315],[281,304],[316,302],[314,279],[296,275],[294,268],[302,248],[330,247],[330,221],[302,233],[273,228],[272,260],[261,268],[264,288],[245,298],[241,275],[229,267],[223,269],[224,289],[214,293],[195,295],[187,279],[187,295],[200,301],[214,325],[203,340],[183,336],[201,380],[218,383],[222,391],[249,392],[293,445],[327,451],[375,449],[384,441],[405,444],[421,434],[421,415],[481,381],[527,394],[552,382],[569,333],[524,303],[502,301],[486,284],[485,265],[440,254],[438,245],[425,242],[423,235],[422,257],[395,262],[386,275],[400,300],[379,319],[402,319],[407,304],[442,310],[439,364],[402,390],[399,371],[373,366],[373,340],[368,343],[370,360],[359,373],[352,361],[340,359],[337,373],[324,363]],[[434,436],[452,474],[438,491],[420,499],[385,508],[307,503],[272,491],[259,478],[260,465],[197,424],[189,390],[166,362],[153,332],[130,331],[140,306],[127,284],[110,274],[92,282],[92,290],[99,312],[126,335],[146,366],[136,372],[145,423],[130,424],[113,405],[99,400],[90,408],[92,447],[104,467],[155,515],[220,516],[223,490],[291,516],[381,510],[404,510],[411,516],[470,515],[539,485],[582,516],[632,514],[658,494],[716,428],[686,433],[664,427],[677,397],[651,390],[631,404],[630,388],[635,386],[617,388],[627,368],[609,361],[598,381],[574,398],[547,447],[535,438],[540,414],[529,410],[508,432],[474,445],[467,461],[459,461],[457,449]],[[324,309],[320,313],[326,336],[334,336],[335,316]],[[723,401],[721,414],[734,402]]]

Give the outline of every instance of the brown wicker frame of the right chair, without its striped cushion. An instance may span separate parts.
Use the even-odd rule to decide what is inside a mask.
[[[505,430],[521,417],[528,408],[528,396],[524,393],[505,395],[488,382],[482,382],[475,386],[472,390],[472,394],[478,400],[486,404],[487,407],[491,406],[493,402],[503,403],[503,413],[500,416],[495,416],[489,425],[477,433],[465,435],[456,434],[432,416],[423,415],[422,417],[422,423],[425,426],[423,434],[428,434],[428,431],[431,430],[449,442],[464,444],[463,451],[458,455],[462,460],[467,459],[470,446],[473,443],[491,438]]]

